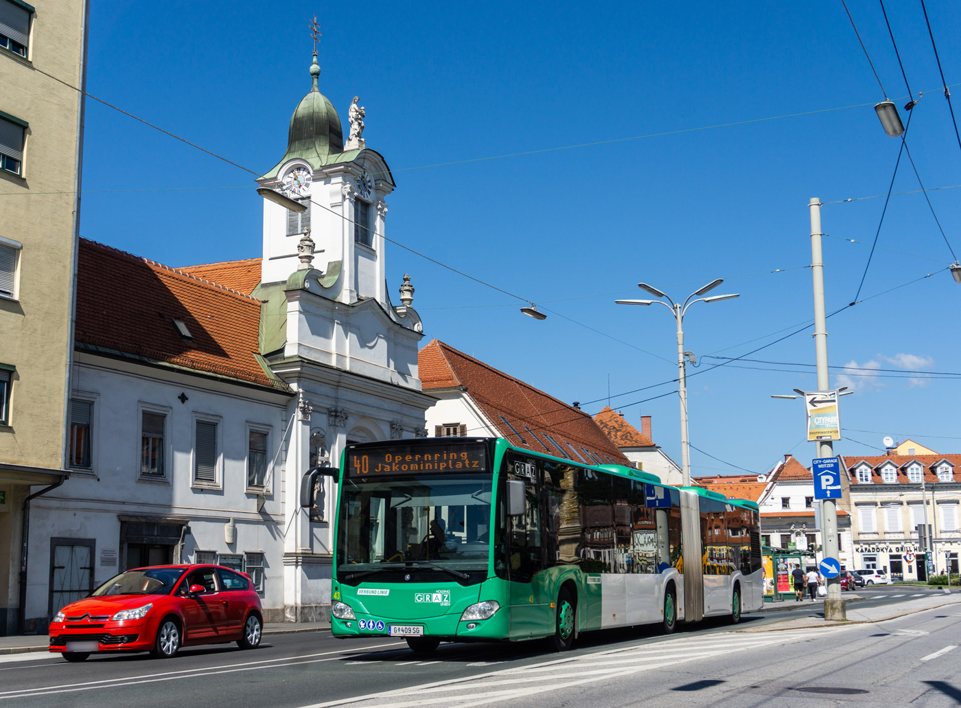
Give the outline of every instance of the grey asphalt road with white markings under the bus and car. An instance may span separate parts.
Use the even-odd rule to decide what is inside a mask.
[[[904,587],[875,588],[861,592],[867,599],[857,604],[897,605],[912,599],[913,594],[930,592]],[[812,605],[746,615],[736,628],[760,627],[820,611],[820,606]],[[892,614],[896,612],[893,607]],[[899,629],[891,629],[899,622]],[[958,705],[961,683],[953,679],[952,673],[931,670],[949,667],[954,672],[961,651],[951,650],[918,662],[952,642],[961,644],[959,622],[958,606],[926,611],[884,625],[761,634],[731,634],[735,627],[729,623],[707,620],[684,626],[670,638],[650,627],[593,632],[581,635],[579,645],[565,654],[548,652],[540,643],[523,643],[442,645],[424,657],[413,654],[405,643],[388,638],[342,641],[333,639],[328,632],[268,636],[255,651],[243,651],[234,645],[187,648],[172,660],[150,659],[146,654],[94,655],[83,664],[68,664],[58,654],[20,654],[0,658],[0,708],[5,702],[17,708],[300,708],[369,695],[375,697],[357,705],[477,705],[509,697],[512,708],[518,708],[566,703],[562,698],[568,696],[557,693],[565,681],[574,681],[566,690],[579,695],[577,701],[569,703],[572,705],[580,701],[605,706],[633,705],[657,696],[682,705],[711,705],[731,697],[737,697],[737,705],[760,705],[778,696],[778,708],[783,708],[795,701],[806,701],[806,706],[816,699],[819,704],[833,705],[837,699],[863,700],[869,695],[876,702],[877,682],[882,678],[888,683],[906,683],[898,683],[898,691],[890,694],[892,699],[881,702],[903,704],[910,695],[921,696],[917,705]],[[850,645],[850,651],[841,651],[841,642],[848,643],[844,646]],[[843,665],[847,673],[835,676],[834,669],[828,670],[823,654],[836,657],[838,666]],[[930,674],[931,681],[945,685],[924,684],[924,689],[920,678],[905,676],[904,670],[915,665],[926,671],[919,676]],[[639,671],[646,673],[633,676]],[[797,676],[793,675],[796,671],[800,671]],[[769,673],[762,688],[751,688],[761,674]],[[571,678],[575,674],[586,678],[575,681]],[[475,678],[463,681],[472,676]],[[458,681],[453,689],[443,685],[425,688],[452,680]],[[869,693],[821,695],[794,691],[788,686],[800,686],[804,681],[813,681],[812,686],[863,684]],[[646,688],[638,693],[641,685]],[[684,688],[688,685],[693,688]],[[400,700],[376,697],[404,689],[412,691]],[[922,689],[927,693],[918,693]],[[739,693],[732,696],[731,691]],[[601,692],[601,700],[594,692]],[[474,697],[467,700],[470,696]],[[894,696],[898,696],[897,700]]]

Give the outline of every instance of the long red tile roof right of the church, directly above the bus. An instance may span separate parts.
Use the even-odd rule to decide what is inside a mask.
[[[466,395],[491,421],[498,435],[513,444],[579,462],[578,457],[566,448],[566,443],[570,443],[579,456],[585,456],[580,449],[584,447],[599,455],[604,464],[613,460],[618,465],[633,467],[588,414],[504,371],[489,367],[438,340],[432,340],[422,348],[417,360],[418,375],[425,391],[465,387]],[[467,434],[480,432],[469,430]],[[564,455],[554,449],[547,435],[564,445]]]

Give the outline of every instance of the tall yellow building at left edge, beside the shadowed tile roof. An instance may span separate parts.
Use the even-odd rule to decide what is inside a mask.
[[[69,468],[88,0],[32,1],[0,0],[0,634],[22,631],[29,497]]]

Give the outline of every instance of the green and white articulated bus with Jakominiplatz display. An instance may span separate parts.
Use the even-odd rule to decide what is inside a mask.
[[[336,637],[550,638],[725,616],[763,604],[757,505],[505,439],[349,444],[340,469]]]

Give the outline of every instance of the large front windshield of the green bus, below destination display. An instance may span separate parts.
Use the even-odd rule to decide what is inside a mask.
[[[493,477],[429,474],[348,482],[342,493],[337,575],[381,569],[486,570]]]

